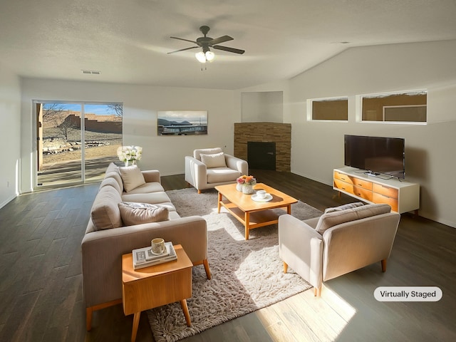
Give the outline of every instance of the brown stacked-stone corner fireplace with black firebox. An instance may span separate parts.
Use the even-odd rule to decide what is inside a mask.
[[[249,144],[250,142],[250,144]],[[253,143],[252,143],[253,142]],[[258,147],[261,144],[254,142],[274,142],[275,143],[275,169],[264,167],[261,162],[254,160],[254,165],[250,165],[249,145]],[[265,144],[264,150],[266,158],[271,155],[270,146],[274,144]],[[269,148],[269,149],[268,149]],[[261,151],[261,150],[260,150]],[[262,153],[262,152],[260,152]],[[291,172],[291,124],[290,123],[234,123],[234,155],[249,162],[249,169],[256,168],[264,170],[276,170],[282,172]],[[250,155],[252,159],[252,151]]]

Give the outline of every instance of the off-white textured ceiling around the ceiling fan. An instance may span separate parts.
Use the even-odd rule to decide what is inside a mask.
[[[212,50],[206,71],[199,49],[167,54],[202,25],[246,53]],[[238,89],[353,46],[449,39],[455,0],[0,0],[0,63],[37,78]]]

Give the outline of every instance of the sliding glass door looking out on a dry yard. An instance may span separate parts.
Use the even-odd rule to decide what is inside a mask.
[[[122,105],[36,101],[36,189],[98,182],[122,145]]]

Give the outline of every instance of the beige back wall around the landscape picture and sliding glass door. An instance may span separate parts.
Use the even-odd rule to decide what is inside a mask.
[[[22,191],[31,191],[36,142],[33,140],[33,100],[123,102],[123,143],[143,147],[140,166],[158,169],[162,175],[184,172],[184,157],[196,148],[222,147],[233,152],[234,91],[196,88],[133,86],[126,84],[55,81],[36,78],[22,80]],[[157,136],[158,110],[207,110],[207,135]]]

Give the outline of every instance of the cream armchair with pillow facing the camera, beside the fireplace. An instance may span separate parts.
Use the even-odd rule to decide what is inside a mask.
[[[201,193],[217,185],[235,183],[237,177],[248,175],[245,160],[227,155],[219,147],[193,151],[185,156],[185,180]]]

